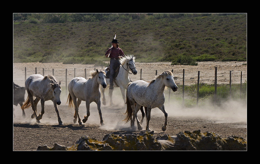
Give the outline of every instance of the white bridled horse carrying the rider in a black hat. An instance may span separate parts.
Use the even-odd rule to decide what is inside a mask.
[[[125,57],[120,58],[119,61],[122,65],[122,67],[120,67],[119,73],[118,73],[117,77],[115,78],[115,82],[118,86],[114,83],[114,88],[115,87],[120,88],[123,100],[126,103],[125,89],[127,89],[128,83],[131,82],[131,80],[128,76],[129,71],[131,71],[134,75],[137,74],[137,70],[135,68],[135,57],[133,55],[125,55]],[[105,72],[107,73],[106,69],[107,69],[107,67],[105,68]],[[109,86],[109,84],[110,84],[109,78],[106,78],[106,82]],[[110,97],[110,105],[113,104],[113,101],[112,101],[113,90],[114,89],[109,89],[109,91],[108,91],[109,97]],[[105,89],[101,88],[101,91],[102,91],[102,96],[103,96],[102,103],[103,103],[103,105],[106,105]]]

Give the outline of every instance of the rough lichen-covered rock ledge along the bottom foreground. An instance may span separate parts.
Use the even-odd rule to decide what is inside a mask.
[[[139,135],[107,134],[102,141],[82,136],[74,146],[59,144],[53,148],[39,146],[37,150],[246,150],[245,139],[230,136],[225,139],[212,132],[201,133],[200,130],[180,132],[176,136],[163,135],[156,139],[153,131],[142,130]]]

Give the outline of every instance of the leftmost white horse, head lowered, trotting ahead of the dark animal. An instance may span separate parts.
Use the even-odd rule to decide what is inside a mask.
[[[57,82],[54,76],[45,76],[43,77],[40,74],[34,74],[27,78],[25,81],[25,88],[28,93],[27,100],[24,102],[21,107],[23,110],[29,108],[30,106],[33,108],[34,113],[31,115],[33,119],[36,117],[36,122],[40,123],[39,120],[42,119],[42,115],[44,114],[44,102],[51,100],[53,101],[55,111],[58,116],[59,125],[63,125],[59,109],[57,105],[61,104],[61,82]],[[33,99],[35,97],[35,100]],[[41,113],[37,115],[37,103],[41,100]]]

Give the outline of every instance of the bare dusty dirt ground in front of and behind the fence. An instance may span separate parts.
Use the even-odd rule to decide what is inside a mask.
[[[246,62],[199,62],[198,66],[183,66],[170,63],[136,63],[136,69],[139,71],[137,75],[130,75],[132,81],[140,80],[140,69],[142,68],[142,79],[151,81],[155,77],[155,70],[158,74],[165,70],[172,70],[174,76],[177,77],[175,82],[182,84],[183,69],[185,69],[185,85],[197,82],[198,71],[200,71],[200,79],[204,83],[212,83],[215,79],[215,67],[218,68],[218,82],[229,84],[229,71],[232,71],[232,83],[240,83],[240,74],[242,71],[242,82],[247,80],[247,67],[242,65]],[[62,80],[62,86],[65,86],[65,69],[68,70],[68,82],[74,77],[74,68],[76,68],[76,76],[84,77],[84,68],[87,69],[87,77],[89,70],[94,69],[94,65],[81,64],[62,64],[62,63],[14,63],[13,64],[13,80],[16,84],[24,86],[24,68],[27,69],[27,77],[37,72],[42,74],[52,74],[57,80]],[[100,69],[100,68],[98,68]],[[63,90],[63,92],[65,92]],[[58,106],[60,110],[63,126],[58,125],[57,115],[51,101],[46,102],[45,113],[40,124],[36,124],[35,119],[30,116],[33,113],[31,109],[26,109],[26,118],[22,118],[22,111],[17,106],[15,108],[16,118],[13,119],[13,150],[36,150],[40,145],[48,145],[53,147],[54,143],[64,146],[72,146],[83,135],[94,137],[102,140],[103,136],[108,133],[114,134],[131,134],[139,133],[138,130],[129,129],[130,123],[122,121],[125,118],[125,106],[119,90],[113,93],[114,105],[101,105],[103,120],[105,126],[100,126],[99,115],[96,104],[90,104],[90,117],[85,126],[79,126],[73,123],[74,109],[68,109],[66,103],[66,95],[62,97],[62,104]],[[107,98],[107,101],[109,98]],[[164,123],[163,113],[155,108],[152,109],[150,128],[154,130],[155,135],[176,135],[185,130],[193,131],[200,129],[201,132],[215,132],[222,137],[231,135],[244,137],[247,139],[247,107],[246,104],[226,103],[221,108],[212,110],[210,106],[205,108],[183,109],[174,106],[174,102],[165,104],[168,112],[168,126],[165,132],[161,127]],[[38,103],[40,109],[40,103]],[[86,115],[86,107],[84,103],[80,105],[80,116]],[[140,116],[141,113],[139,112]],[[145,129],[145,125],[143,125]]]

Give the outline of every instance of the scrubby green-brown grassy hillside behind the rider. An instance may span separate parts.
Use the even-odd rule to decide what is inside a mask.
[[[121,17],[124,15],[121,15]],[[98,64],[114,38],[137,62],[246,61],[247,15],[146,15],[102,21],[14,21],[14,62]]]

